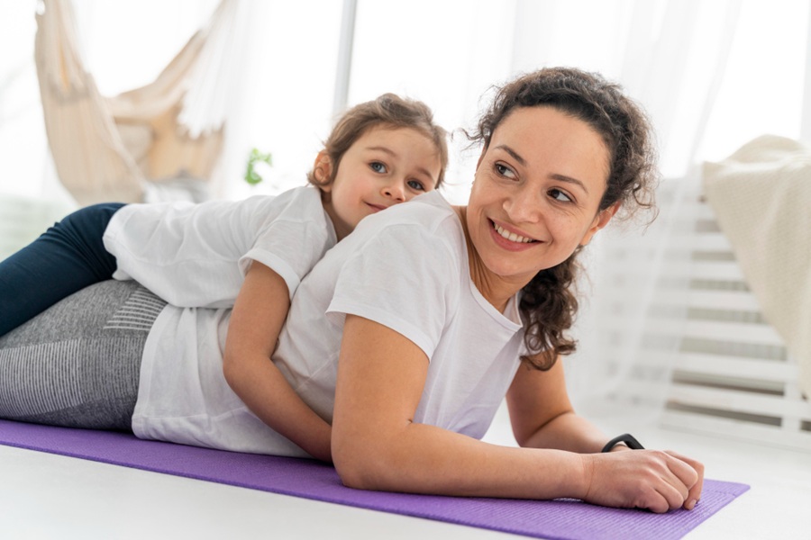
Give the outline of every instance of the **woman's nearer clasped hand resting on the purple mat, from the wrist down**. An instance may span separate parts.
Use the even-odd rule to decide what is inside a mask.
[[[701,497],[704,465],[675,452],[633,450],[582,455],[590,477],[583,500],[617,508],[691,510]]]

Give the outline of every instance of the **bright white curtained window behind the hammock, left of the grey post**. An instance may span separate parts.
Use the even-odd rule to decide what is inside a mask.
[[[82,58],[102,94],[149,83],[205,23],[218,0],[73,2]],[[37,0],[0,0],[0,194],[75,205],[50,161],[33,62]],[[226,124],[214,196],[278,193],[305,182],[305,172],[332,123],[331,99],[341,4],[333,0],[240,0],[233,29],[238,49],[232,73],[216,85],[236,85],[219,103]],[[317,14],[318,16],[314,16]],[[205,89],[202,91],[205,92]],[[194,119],[190,119],[194,122]],[[273,154],[267,180],[241,178],[251,148]]]

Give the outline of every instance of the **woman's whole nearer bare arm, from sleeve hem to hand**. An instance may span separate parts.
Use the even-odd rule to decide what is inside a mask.
[[[346,485],[457,496],[573,497],[666,511],[682,506],[685,483],[696,482],[688,464],[664,453],[580,455],[495,446],[415,424],[427,372],[428,358],[413,342],[376,322],[347,316],[333,416],[333,459]],[[613,464],[622,465],[620,474],[612,473]],[[606,484],[613,490],[606,491]]]

